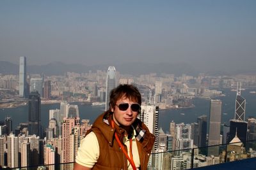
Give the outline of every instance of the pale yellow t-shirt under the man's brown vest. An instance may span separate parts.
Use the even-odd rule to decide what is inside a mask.
[[[135,130],[133,132],[135,134]],[[130,155],[130,140],[125,137],[124,144],[127,146],[128,155]],[[100,148],[97,136],[94,132],[90,132],[84,139],[81,141],[81,145],[78,149],[76,162],[82,166],[92,168],[99,158]],[[138,153],[138,148],[136,144],[136,138],[132,136],[132,156],[134,164],[138,169],[140,167],[140,157]],[[128,169],[132,169],[132,166],[127,160]]]

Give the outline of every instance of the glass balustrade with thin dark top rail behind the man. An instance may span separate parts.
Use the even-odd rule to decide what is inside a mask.
[[[152,153],[148,169],[193,169],[256,157],[256,140]],[[74,162],[3,169],[73,169]],[[1,169],[1,167],[0,167]]]

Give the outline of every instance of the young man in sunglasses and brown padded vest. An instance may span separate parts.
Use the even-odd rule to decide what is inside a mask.
[[[78,150],[77,169],[147,169],[154,135],[138,118],[141,94],[134,85],[111,90],[109,110],[86,133]]]

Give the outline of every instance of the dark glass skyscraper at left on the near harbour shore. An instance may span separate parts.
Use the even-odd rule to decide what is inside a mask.
[[[41,127],[41,99],[38,92],[31,92],[28,101],[28,131],[29,134],[36,134],[42,137]]]

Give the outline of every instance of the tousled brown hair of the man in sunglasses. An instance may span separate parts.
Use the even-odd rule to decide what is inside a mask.
[[[134,85],[123,84],[111,90],[109,96],[109,111],[111,111],[111,108],[115,108],[116,101],[123,96],[141,105],[141,94],[138,88]]]

